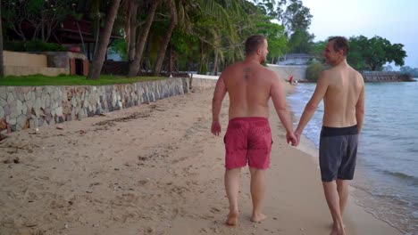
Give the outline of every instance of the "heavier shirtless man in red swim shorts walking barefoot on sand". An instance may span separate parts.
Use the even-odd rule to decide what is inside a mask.
[[[229,225],[235,225],[238,220],[239,173],[241,167],[247,163],[251,174],[250,191],[253,200],[251,221],[258,223],[266,217],[261,210],[265,169],[269,167],[272,150],[272,132],[268,120],[270,98],[286,128],[287,141],[294,146],[297,144],[282,82],[274,71],[262,65],[268,53],[267,46],[264,36],[249,36],[246,41],[246,59],[222,71],[213,93],[214,135],[221,133],[219,114],[222,100],[226,93],[230,96],[230,122],[224,137],[225,189],[230,201],[230,214],[226,223]]]

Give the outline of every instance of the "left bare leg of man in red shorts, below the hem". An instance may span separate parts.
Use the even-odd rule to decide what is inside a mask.
[[[238,196],[239,196],[239,173],[241,168],[225,170],[225,190],[230,201],[230,215],[226,223],[228,225],[237,224],[238,220]]]

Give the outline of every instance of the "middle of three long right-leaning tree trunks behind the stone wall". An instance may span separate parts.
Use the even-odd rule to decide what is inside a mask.
[[[148,37],[149,28],[151,28],[151,25],[153,24],[156,8],[159,2],[159,0],[155,0],[149,9],[144,30],[142,34],[138,36],[135,50],[135,59],[130,62],[130,71],[128,73],[128,77],[135,77],[138,75],[139,66],[141,65],[142,53],[144,53],[144,47],[146,44],[146,38]]]

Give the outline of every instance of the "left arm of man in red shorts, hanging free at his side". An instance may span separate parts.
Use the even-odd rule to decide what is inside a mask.
[[[223,74],[222,74],[223,75]],[[212,128],[211,131],[214,135],[219,135],[221,133],[221,124],[219,123],[219,114],[221,113],[221,106],[223,98],[227,93],[225,83],[223,81],[223,76],[219,77],[218,82],[216,83],[215,90],[213,92],[212,99]]]

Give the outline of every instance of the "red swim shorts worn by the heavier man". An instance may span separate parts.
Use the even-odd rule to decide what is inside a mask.
[[[225,167],[233,169],[247,165],[258,169],[270,166],[272,130],[267,118],[232,118],[223,138]]]

